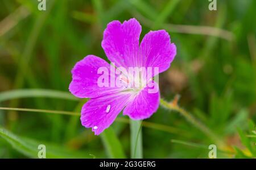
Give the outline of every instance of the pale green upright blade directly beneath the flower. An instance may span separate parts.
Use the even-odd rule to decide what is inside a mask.
[[[131,158],[142,158],[142,121],[130,119]]]

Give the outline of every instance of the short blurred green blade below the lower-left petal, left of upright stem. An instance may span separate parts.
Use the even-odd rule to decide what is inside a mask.
[[[115,135],[112,127],[104,130],[100,137],[110,158],[126,158],[122,144],[117,138],[117,135]]]

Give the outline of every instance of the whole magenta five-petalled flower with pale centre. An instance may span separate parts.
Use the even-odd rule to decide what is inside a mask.
[[[129,19],[123,23],[118,20],[110,22],[104,31],[101,46],[108,59],[115,67],[144,67],[158,68],[159,73],[166,71],[176,55],[176,46],[171,43],[170,36],[165,30],[150,31],[139,44],[141,25],[136,19]],[[159,90],[149,93],[154,85],[151,77],[135,77],[141,82],[140,86],[131,84],[130,77],[122,74],[110,74],[107,78],[116,78],[124,86],[99,86],[101,74],[99,68],[106,68],[113,72],[113,66],[105,60],[94,55],[88,55],[77,62],[72,69],[72,82],[69,91],[79,98],[90,98],[82,106],[81,123],[87,128],[92,128],[95,135],[99,135],[108,128],[123,110],[123,115],[139,120],[151,117],[158,109]]]

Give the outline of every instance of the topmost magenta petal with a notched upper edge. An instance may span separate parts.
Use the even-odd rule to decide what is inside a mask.
[[[135,67],[140,34],[141,25],[135,18],[123,23],[114,20],[105,29],[101,46],[108,59],[117,67]]]

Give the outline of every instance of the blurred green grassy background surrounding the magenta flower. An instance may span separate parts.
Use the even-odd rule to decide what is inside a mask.
[[[143,157],[207,158],[210,144],[218,158],[256,157],[256,1],[217,0],[217,11],[192,0],[48,0],[46,11],[38,3],[0,2],[0,157],[38,157],[39,144],[47,157],[131,156],[128,117],[94,136],[79,116],[54,113],[80,112],[86,99],[68,92],[73,65],[89,54],[106,59],[106,24],[130,18],[141,23],[141,39],[170,33],[177,55],[159,76],[161,97],[179,94],[179,105],[210,131],[160,106],[143,121]]]

